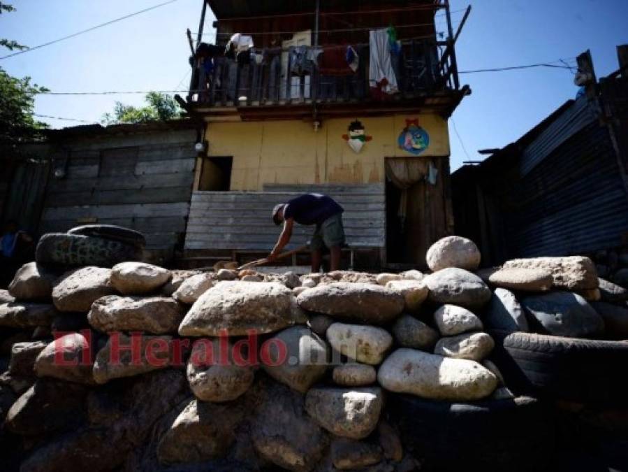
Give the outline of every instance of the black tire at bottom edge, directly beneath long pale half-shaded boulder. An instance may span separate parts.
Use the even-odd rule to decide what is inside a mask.
[[[390,395],[405,448],[426,471],[542,471],[555,449],[553,416],[536,399],[477,403]]]

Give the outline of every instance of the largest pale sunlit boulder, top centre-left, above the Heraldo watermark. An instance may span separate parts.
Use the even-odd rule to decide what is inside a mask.
[[[221,282],[192,305],[181,336],[245,336],[278,331],[294,324],[298,307],[292,290],[280,283]]]

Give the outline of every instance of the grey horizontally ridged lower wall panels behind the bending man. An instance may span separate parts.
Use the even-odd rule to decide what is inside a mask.
[[[272,224],[272,208],[305,192],[327,194],[344,208],[346,239],[353,248],[386,245],[384,185],[265,185],[268,192],[194,192],[186,250],[268,251],[281,227]],[[305,244],[314,227],[295,225],[289,249]]]

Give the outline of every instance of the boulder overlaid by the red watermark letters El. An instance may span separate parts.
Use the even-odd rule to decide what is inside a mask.
[[[39,352],[35,360],[35,373],[38,377],[92,385],[93,349],[89,331],[60,336]]]

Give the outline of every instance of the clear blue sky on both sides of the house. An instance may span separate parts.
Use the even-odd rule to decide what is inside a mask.
[[[13,0],[0,15],[0,36],[34,46],[165,0]],[[628,43],[627,0],[451,0],[454,25],[472,13],[456,45],[460,71],[556,62],[570,66],[587,49],[598,77],[618,69],[616,46]],[[177,0],[142,15],[23,55],[0,60],[13,76],[30,76],[54,92],[185,90],[189,45],[201,0]],[[206,20],[211,31],[212,15]],[[206,36],[205,41],[211,40]],[[3,52],[3,51],[0,51]],[[0,54],[3,55],[3,54]],[[574,98],[568,69],[461,74],[467,96],[450,120],[451,169],[501,148]],[[35,113],[99,122],[115,101],[142,105],[143,94],[38,96]],[[39,118],[52,127],[79,122]],[[454,128],[458,131],[456,134]],[[460,137],[458,137],[460,135]]]

